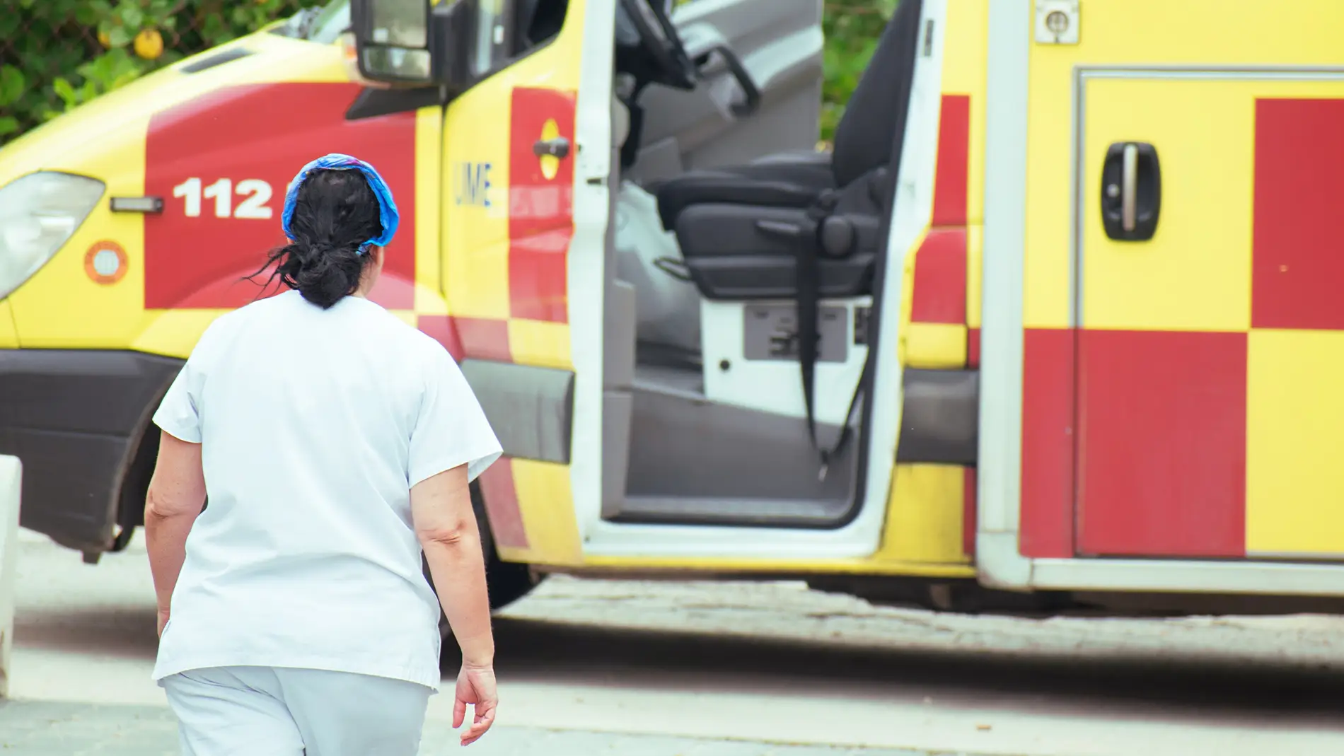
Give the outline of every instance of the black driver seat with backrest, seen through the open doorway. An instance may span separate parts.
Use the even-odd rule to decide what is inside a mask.
[[[808,294],[871,293],[896,134],[905,130],[921,3],[900,3],[864,70],[831,153],[767,156],[691,171],[657,189],[663,227],[708,299],[794,299],[800,246]],[[812,247],[808,250],[808,247]],[[810,270],[808,270],[810,269]]]

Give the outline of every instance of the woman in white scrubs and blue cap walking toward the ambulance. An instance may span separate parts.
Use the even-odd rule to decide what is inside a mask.
[[[495,720],[468,483],[500,444],[444,348],[367,299],[396,224],[368,164],[306,165],[269,261],[292,290],[219,317],[155,414],[155,679],[185,755],[414,756],[439,602],[462,744]]]

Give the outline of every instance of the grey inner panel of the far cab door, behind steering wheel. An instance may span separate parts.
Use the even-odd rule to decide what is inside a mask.
[[[650,86],[640,97],[644,130],[632,179],[656,181],[816,146],[821,0],[694,0],[672,20],[692,56],[720,44],[737,52],[761,90],[761,109],[741,120],[732,115],[730,106],[743,93],[716,56],[695,91]]]

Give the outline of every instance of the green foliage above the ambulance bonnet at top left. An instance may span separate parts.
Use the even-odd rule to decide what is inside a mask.
[[[0,0],[0,144],[317,0]]]

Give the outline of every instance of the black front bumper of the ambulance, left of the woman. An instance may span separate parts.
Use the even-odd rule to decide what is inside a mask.
[[[0,350],[0,454],[23,461],[20,524],[83,552],[112,547],[121,481],[181,360]]]

